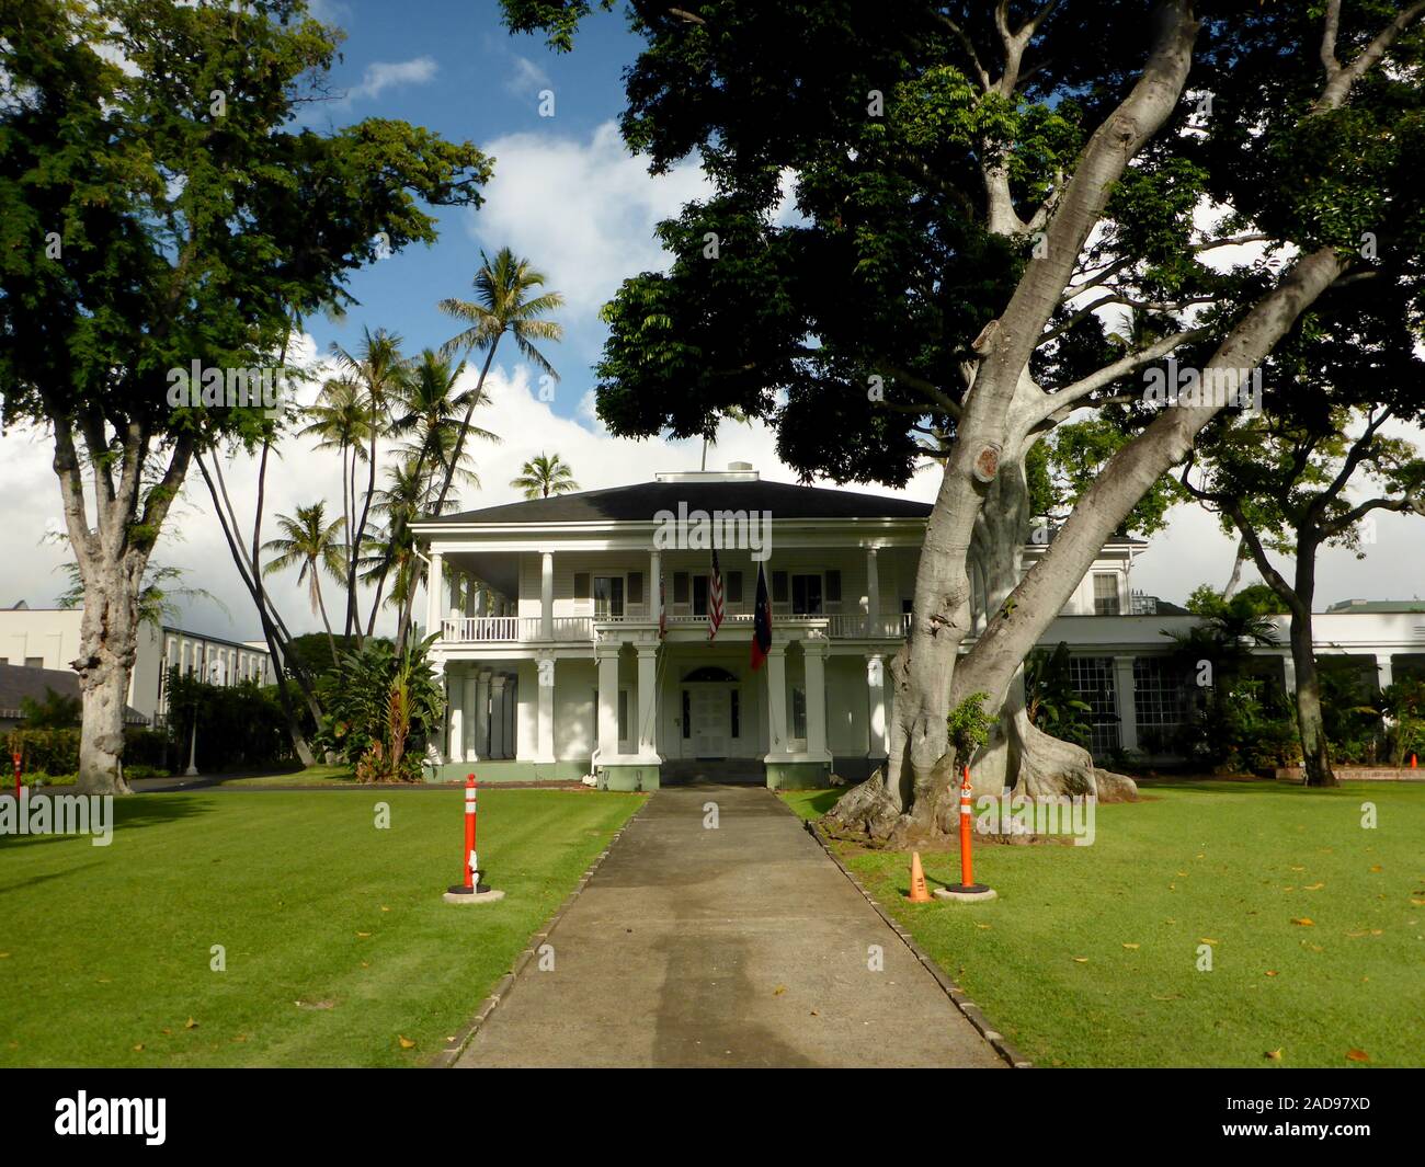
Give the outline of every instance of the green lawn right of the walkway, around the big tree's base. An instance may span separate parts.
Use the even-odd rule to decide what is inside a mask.
[[[905,852],[842,854],[1042,1066],[1425,1064],[1425,785],[1144,795],[1100,806],[1093,846],[980,845],[990,903],[912,906]],[[835,797],[787,801],[815,818]],[[922,859],[959,882],[958,852]]]

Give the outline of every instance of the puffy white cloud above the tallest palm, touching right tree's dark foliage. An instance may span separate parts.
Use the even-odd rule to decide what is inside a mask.
[[[654,225],[711,192],[695,161],[651,177],[611,121],[587,141],[510,134],[484,148],[494,180],[470,215],[472,234],[487,251],[509,245],[530,259],[574,316],[591,318],[626,276],[663,269]]]

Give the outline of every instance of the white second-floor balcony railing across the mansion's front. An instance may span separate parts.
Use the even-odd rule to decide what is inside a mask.
[[[596,616],[556,616],[553,640],[589,641],[598,638],[600,628],[620,624],[648,626],[654,621],[647,606],[626,606],[620,616],[598,613]],[[911,631],[909,616],[876,616],[866,620],[864,613],[834,616],[772,614],[772,626],[801,626],[804,623],[824,624],[826,636],[834,640],[901,640]],[[670,628],[693,628],[707,624],[707,616],[690,611],[667,613]],[[752,613],[735,611],[722,617],[724,628],[750,627]],[[460,616],[440,621],[440,638],[447,644],[540,644],[549,643],[543,636],[543,621],[537,616]]]

